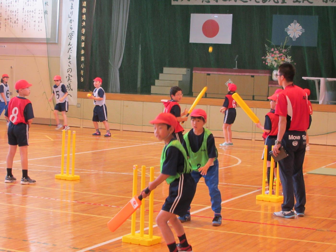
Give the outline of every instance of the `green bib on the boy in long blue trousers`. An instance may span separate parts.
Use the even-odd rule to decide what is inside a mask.
[[[198,171],[198,169],[203,167],[209,160],[207,140],[208,140],[208,137],[211,134],[211,132],[210,132],[210,130],[208,130],[206,128],[204,129],[203,142],[202,142],[201,148],[198,150],[198,152],[193,152],[191,147],[190,147],[190,142],[189,142],[189,138],[188,138],[189,132],[186,133],[183,136],[183,138],[184,138],[184,141],[187,145],[187,150],[188,150],[188,154],[189,154],[189,162],[191,164],[191,167],[193,168],[193,170]],[[217,149],[216,149],[216,152],[217,152]],[[218,152],[217,152],[217,156],[218,156]]]

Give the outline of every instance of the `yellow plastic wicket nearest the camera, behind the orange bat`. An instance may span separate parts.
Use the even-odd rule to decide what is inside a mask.
[[[133,193],[132,197],[137,195],[137,176],[138,166],[133,166]],[[145,188],[146,166],[141,166],[141,190]],[[154,167],[150,168],[150,182],[154,180]],[[142,199],[140,206],[140,233],[135,233],[136,211],[132,214],[131,219],[131,234],[125,235],[122,238],[123,242],[139,244],[143,246],[152,246],[161,243],[160,236],[153,236],[153,209],[154,209],[154,191],[149,196],[149,223],[148,235],[144,234],[144,216],[145,216],[145,199]]]

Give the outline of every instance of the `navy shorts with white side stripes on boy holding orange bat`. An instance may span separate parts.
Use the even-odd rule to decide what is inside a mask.
[[[162,210],[184,215],[194,199],[196,183],[191,173],[183,173],[169,184],[169,196],[162,206]]]

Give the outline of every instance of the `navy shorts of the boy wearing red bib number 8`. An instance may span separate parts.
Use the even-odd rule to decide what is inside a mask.
[[[18,146],[29,145],[28,124],[25,123],[13,124],[12,122],[9,122],[7,135],[9,145],[18,145]]]

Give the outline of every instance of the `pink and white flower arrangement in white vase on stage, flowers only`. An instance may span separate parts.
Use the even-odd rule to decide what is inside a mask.
[[[278,46],[278,47],[276,47],[276,45],[274,45],[272,42],[271,42],[273,44],[272,47],[268,46],[268,45],[265,45],[266,56],[262,57],[262,59],[264,60],[263,64],[265,64],[268,67],[274,69],[274,68],[277,68],[279,65],[281,65],[284,62],[288,62],[288,63],[293,62],[292,56],[289,56],[289,51],[291,49],[291,46],[289,46],[285,49],[287,38],[288,37],[286,37],[286,39],[285,39],[284,45],[282,45],[282,43],[281,43],[281,45]],[[295,65],[294,62],[293,62],[293,64]]]

